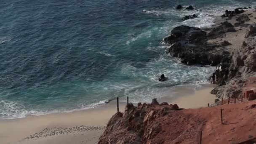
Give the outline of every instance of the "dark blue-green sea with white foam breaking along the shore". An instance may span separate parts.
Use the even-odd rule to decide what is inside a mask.
[[[225,9],[252,1],[1,0],[0,117],[87,109],[117,96],[150,101],[207,83],[213,67],[181,64],[161,40],[180,24],[211,27]],[[202,11],[174,10],[180,3]]]

